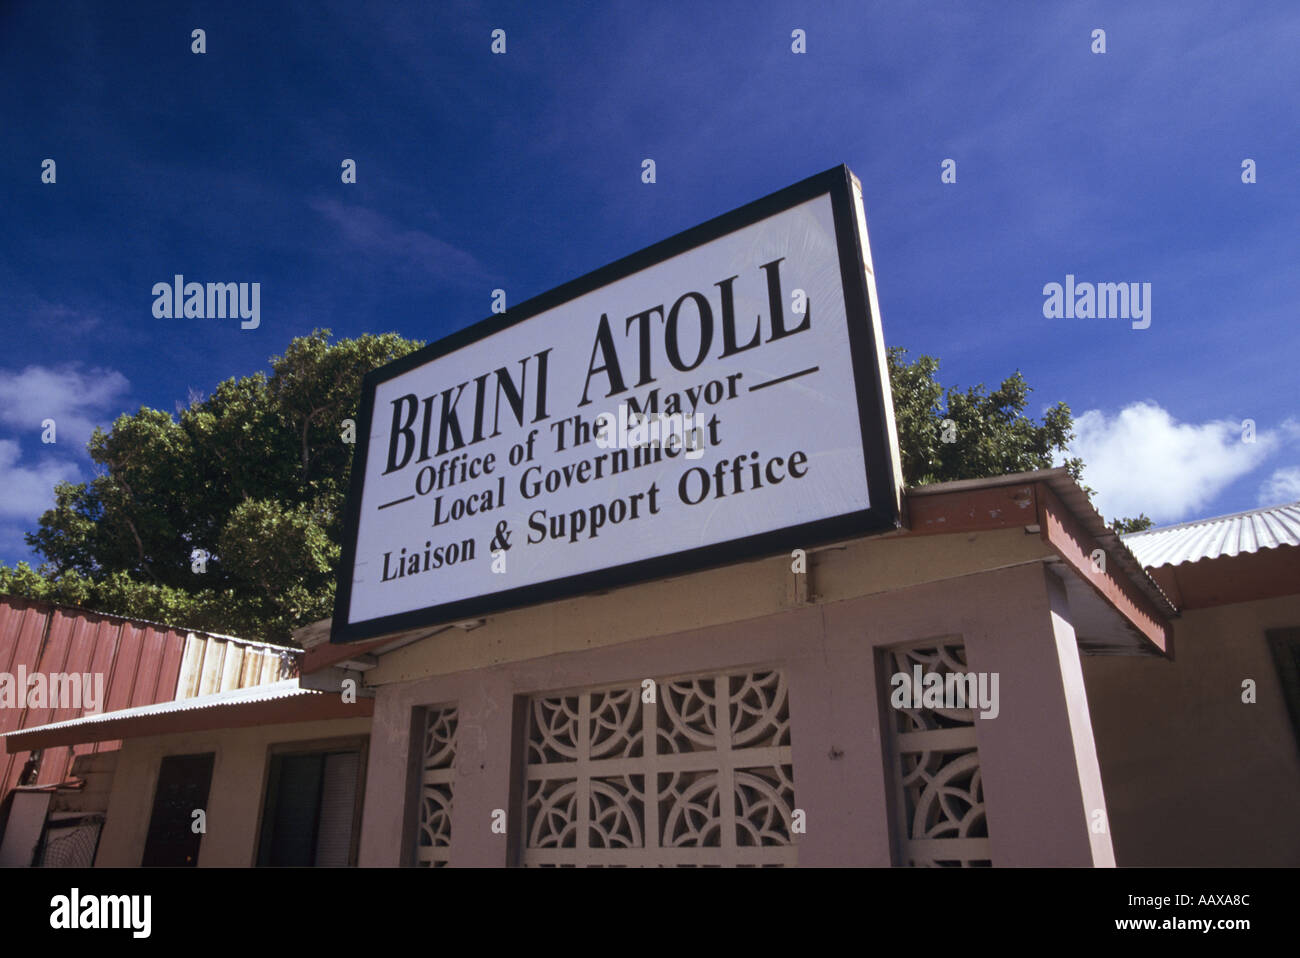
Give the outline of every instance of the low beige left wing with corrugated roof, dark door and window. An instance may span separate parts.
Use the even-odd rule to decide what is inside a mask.
[[[121,741],[101,789],[99,867],[347,866],[370,708],[290,677],[8,738],[10,747]]]

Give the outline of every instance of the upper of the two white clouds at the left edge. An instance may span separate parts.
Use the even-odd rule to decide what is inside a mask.
[[[0,422],[40,439],[42,422],[55,420],[57,446],[83,454],[96,425],[107,425],[130,383],[116,369],[79,364],[0,369]]]

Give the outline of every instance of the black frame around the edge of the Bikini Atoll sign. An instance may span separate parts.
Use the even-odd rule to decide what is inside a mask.
[[[358,429],[358,435],[365,438],[358,442],[352,458],[352,474],[348,484],[344,513],[343,554],[339,563],[338,588],[334,597],[330,642],[350,643],[421,627],[445,625],[481,617],[493,612],[572,598],[584,593],[644,582],[663,576],[680,576],[686,572],[698,572],[737,562],[789,552],[793,549],[806,549],[809,546],[896,529],[900,524],[900,489],[896,480],[898,474],[898,450],[894,441],[892,441],[889,422],[892,409],[887,411],[885,408],[885,396],[888,395],[885,389],[888,383],[883,380],[888,376],[887,364],[884,357],[878,355],[876,350],[876,343],[879,342],[876,325],[880,317],[871,313],[871,299],[867,294],[867,277],[864,272],[867,259],[863,237],[858,230],[854,188],[855,178],[849,168],[844,165],[835,166],[759,200],[748,203],[729,213],[723,213],[707,222],[693,226],[586,276],[572,279],[549,292],[520,303],[514,309],[507,309],[504,313],[476,322],[367,373],[361,383],[361,408]],[[356,536],[360,524],[361,491],[365,481],[369,435],[374,415],[374,395],[380,383],[530,320],[538,313],[554,309],[602,286],[618,282],[647,266],[679,256],[827,194],[831,196],[831,208],[835,218],[840,281],[844,289],[845,318],[849,328],[849,351],[852,354],[853,381],[858,398],[858,424],[861,426],[862,454],[867,473],[867,494],[871,499],[868,508],[819,519],[812,523],[783,526],[738,539],[698,546],[680,552],[638,559],[621,565],[580,572],[545,582],[533,582],[515,589],[485,593],[407,612],[396,612],[377,619],[351,624],[347,621],[347,611],[352,598]]]

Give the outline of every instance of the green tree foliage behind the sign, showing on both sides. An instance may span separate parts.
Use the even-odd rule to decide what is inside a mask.
[[[329,616],[361,378],[422,343],[387,333],[290,342],[257,372],[191,399],[178,416],[140,408],[88,443],[98,474],[61,482],[29,533],[43,556],[0,565],[0,594],[247,638],[291,641]],[[889,350],[909,485],[1048,468],[1072,438],[1070,408],[1026,415],[1017,372],[992,393],[945,389],[939,360]],[[1079,477],[1083,463],[1063,459]],[[1117,523],[1140,523],[1117,520]]]

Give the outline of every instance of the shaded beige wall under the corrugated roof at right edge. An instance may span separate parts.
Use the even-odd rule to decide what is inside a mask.
[[[1300,595],[1193,610],[1173,662],[1084,659],[1121,866],[1300,866],[1300,746],[1264,634],[1297,625]]]

